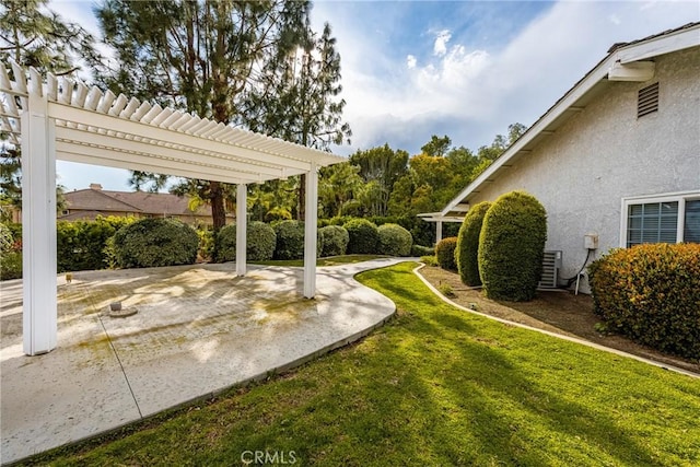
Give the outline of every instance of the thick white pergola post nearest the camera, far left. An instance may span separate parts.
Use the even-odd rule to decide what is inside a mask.
[[[36,80],[34,80],[36,81]],[[22,126],[22,244],[24,353],[56,348],[56,127],[40,82],[32,82]]]

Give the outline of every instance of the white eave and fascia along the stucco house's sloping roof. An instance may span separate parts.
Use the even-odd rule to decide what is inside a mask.
[[[630,43],[615,44],[610,47],[608,55],[593,70],[574,84],[493,164],[433,218],[464,215],[464,212],[468,210],[469,199],[478,194],[485,184],[493,182],[503,172],[506,172],[516,160],[526,157],[539,142],[552,135],[571,116],[583,110],[609,85],[610,81],[648,81],[653,77],[654,65],[653,61],[646,60],[698,46],[700,46],[700,22],[688,23]]]

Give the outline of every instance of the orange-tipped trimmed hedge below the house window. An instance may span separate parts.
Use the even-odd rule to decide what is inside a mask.
[[[595,312],[608,329],[700,359],[700,245],[612,249],[588,267]]]

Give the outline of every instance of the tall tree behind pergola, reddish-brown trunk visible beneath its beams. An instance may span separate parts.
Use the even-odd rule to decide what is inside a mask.
[[[113,92],[240,124],[256,67],[296,48],[308,10],[307,1],[106,0],[95,14],[115,56],[95,62],[96,74]],[[182,191],[211,205],[215,230],[225,224],[223,184],[194,180]]]

